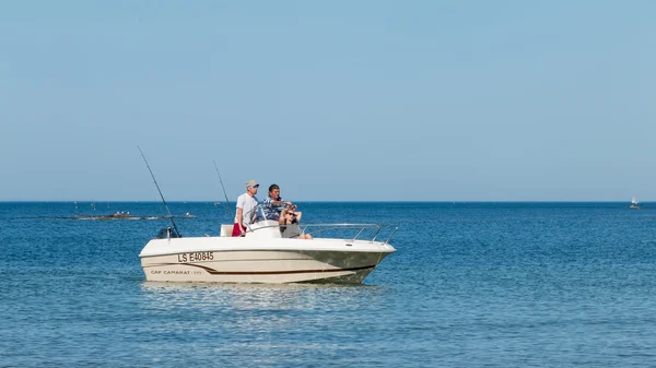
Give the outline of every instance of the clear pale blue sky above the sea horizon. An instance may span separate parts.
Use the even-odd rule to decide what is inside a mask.
[[[0,201],[656,200],[654,1],[4,1]],[[259,197],[266,195],[260,190]]]

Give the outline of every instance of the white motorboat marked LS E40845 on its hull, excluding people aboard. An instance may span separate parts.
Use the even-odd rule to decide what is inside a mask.
[[[139,254],[145,280],[358,284],[396,251],[388,241],[398,227],[301,225],[313,235],[311,240],[282,238],[280,225],[270,219],[250,225],[244,237],[232,237],[232,224],[222,225],[220,236],[204,237],[178,237],[172,228],[161,230]],[[349,232],[344,237],[321,237]],[[385,240],[376,240],[383,235]]]

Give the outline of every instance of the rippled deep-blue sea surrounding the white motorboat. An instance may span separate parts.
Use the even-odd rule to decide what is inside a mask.
[[[79,212],[164,214],[157,203]],[[0,203],[0,367],[656,365],[656,204],[303,203],[305,223],[398,224],[362,286],[147,283],[166,221]],[[231,214],[171,203],[184,235]]]

